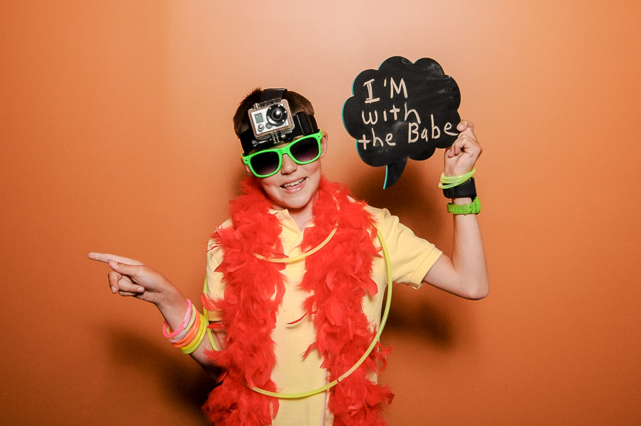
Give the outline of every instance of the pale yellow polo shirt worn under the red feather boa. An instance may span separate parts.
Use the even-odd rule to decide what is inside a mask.
[[[366,207],[374,217],[380,228],[387,250],[390,253],[392,264],[392,281],[409,284],[418,289],[422,284],[427,271],[439,259],[442,251],[434,244],[416,237],[411,229],[400,224],[398,217],[392,216],[387,209]],[[289,256],[301,254],[303,232],[298,229],[296,222],[287,210],[271,210],[281,222],[281,241],[284,253]],[[231,220],[226,221],[222,227],[231,226]],[[310,226],[313,226],[311,224]],[[214,241],[209,241],[211,249]],[[378,239],[374,241],[380,249]],[[211,249],[207,255],[207,281],[209,295],[214,298],[224,296],[224,283],[222,273],[215,269],[223,258],[220,247]],[[363,312],[374,326],[380,324],[383,294],[387,286],[387,269],[382,256],[375,257],[372,261],[372,279],[378,286],[375,296],[363,298]],[[311,351],[303,359],[303,353],[308,346],[316,340],[313,322],[309,318],[288,325],[305,315],[303,301],[308,293],[299,288],[305,273],[305,261],[286,264],[283,274],[286,275],[285,294],[283,303],[276,314],[276,328],[272,333],[276,343],[276,367],[271,378],[283,393],[303,393],[308,390],[320,388],[327,383],[327,372],[320,368],[321,358],[316,350]],[[220,312],[209,312],[209,319],[220,319]],[[333,416],[327,409],[328,393],[312,395],[308,398],[297,400],[280,400],[278,415],[273,419],[273,426],[331,426]]]

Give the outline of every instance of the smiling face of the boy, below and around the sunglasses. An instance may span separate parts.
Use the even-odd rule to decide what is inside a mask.
[[[323,135],[320,140],[320,158],[325,156],[326,151],[327,135]],[[281,170],[259,179],[261,187],[276,209],[288,209],[293,213],[311,207],[322,175],[320,158],[309,164],[299,165],[287,154],[283,154]],[[250,172],[249,167],[245,168]]]

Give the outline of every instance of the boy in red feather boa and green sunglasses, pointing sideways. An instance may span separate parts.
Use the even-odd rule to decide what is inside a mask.
[[[261,134],[248,111],[265,105],[276,105],[268,112],[276,128],[289,128]],[[481,154],[471,123],[459,123],[444,155],[444,180],[454,182],[445,189],[455,213],[450,258],[387,210],[325,180],[328,137],[313,114],[306,98],[284,89],[256,89],[236,110],[250,177],[209,243],[208,318],[142,262],[89,255],[113,269],[113,293],[155,303],[174,346],[205,368],[223,369],[203,407],[216,425],[385,425],[380,411],[392,393],[376,379],[386,350],[376,344],[364,354],[376,339],[387,269],[392,281],[427,282],[464,298],[489,289],[479,204],[467,180]]]

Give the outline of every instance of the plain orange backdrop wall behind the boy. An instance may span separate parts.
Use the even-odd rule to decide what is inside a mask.
[[[637,2],[273,4],[1,2],[0,423],[204,425],[211,383],[86,254],[199,298],[257,85],[306,94],[325,174],[449,250],[441,160],[383,191],[341,122],[353,78],[395,55],[439,61],[476,123],[491,292],[395,291],[390,425],[641,422]]]

